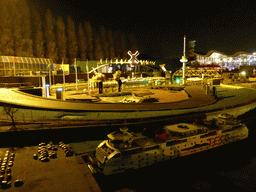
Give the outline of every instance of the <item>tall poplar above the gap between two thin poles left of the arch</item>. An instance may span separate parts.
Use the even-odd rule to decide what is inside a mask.
[[[77,40],[78,40],[77,42],[78,42],[80,59],[82,61],[85,61],[87,57],[87,41],[86,41],[86,36],[81,24],[78,25]]]

